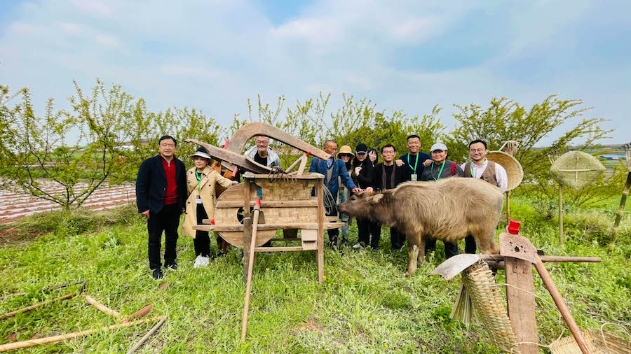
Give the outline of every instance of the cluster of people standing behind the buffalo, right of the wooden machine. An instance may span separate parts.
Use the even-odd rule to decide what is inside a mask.
[[[375,149],[369,149],[363,143],[358,144],[355,153],[350,146],[342,146],[337,150],[337,143],[329,140],[325,142],[323,150],[332,155],[326,162],[314,158],[311,161],[310,172],[318,172],[325,176],[325,185],[334,196],[339,196],[339,203],[350,198],[360,190],[379,191],[397,187],[407,181],[436,181],[452,176],[466,178],[481,178],[506,191],[508,176],[506,170],[495,162],[487,160],[487,143],[474,140],[469,143],[470,161],[457,164],[447,160],[448,150],[444,143],[435,143],[430,148],[430,155],[419,150],[421,139],[417,135],[407,137],[407,153],[396,158],[395,146],[388,143],[381,147],[379,155]],[[374,155],[371,155],[374,152]],[[337,215],[333,210],[329,216]],[[341,228],[341,239],[338,229],[329,229],[330,245],[339,248],[348,244],[348,225],[351,220],[348,215],[341,214],[340,220],[345,223]],[[353,248],[379,248],[381,239],[381,225],[368,219],[358,219],[358,242]],[[391,227],[390,240],[392,250],[402,250],[405,246],[405,234]],[[426,254],[435,251],[435,239],[426,241]],[[465,252],[475,253],[476,245],[473,236],[466,238]],[[458,254],[456,243],[445,243],[445,257]]]

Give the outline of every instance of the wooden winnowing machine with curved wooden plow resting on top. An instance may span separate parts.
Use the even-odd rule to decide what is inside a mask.
[[[257,135],[267,136],[285,143],[301,155],[287,170],[270,169],[241,155],[245,143]],[[186,139],[208,151],[222,166],[236,174],[236,169],[246,173],[243,183],[229,187],[215,204],[215,217],[201,220],[193,229],[218,232],[233,246],[243,248],[245,278],[245,306],[241,340],[247,332],[247,313],[250,305],[252,271],[257,252],[293,252],[315,250],[318,281],[324,281],[324,231],[344,226],[337,217],[327,218],[325,211],[325,186],[322,174],[305,173],[308,155],[328,160],[331,155],[276,127],[262,122],[244,125],[235,132],[224,148]],[[296,171],[294,171],[296,169]],[[315,190],[312,196],[312,190]],[[259,194],[262,199],[259,199]],[[273,239],[278,229],[300,230],[300,236]],[[296,241],[299,246],[262,247],[267,241]]]

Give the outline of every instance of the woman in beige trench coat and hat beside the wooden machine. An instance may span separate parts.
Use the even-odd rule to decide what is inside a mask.
[[[186,171],[186,189],[189,197],[186,199],[186,212],[182,232],[193,238],[195,255],[197,256],[193,267],[205,267],[210,261],[210,237],[208,231],[194,230],[193,225],[201,224],[203,219],[212,219],[215,214],[215,184],[230,187],[238,183],[229,180],[210,168],[212,157],[205,148],[198,148],[191,155],[195,167]]]

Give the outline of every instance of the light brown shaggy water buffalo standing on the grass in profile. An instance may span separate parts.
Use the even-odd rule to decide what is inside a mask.
[[[339,211],[396,227],[407,235],[411,276],[425,259],[425,237],[455,242],[473,235],[481,253],[497,254],[495,229],[503,205],[501,190],[476,178],[407,182],[382,192],[360,192]],[[414,246],[416,250],[414,250]]]

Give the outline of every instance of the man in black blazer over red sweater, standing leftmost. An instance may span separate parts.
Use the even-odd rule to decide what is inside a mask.
[[[186,167],[175,157],[177,141],[165,135],[158,141],[158,155],[144,160],[136,178],[138,213],[147,218],[149,267],[154,280],[163,277],[160,248],[165,235],[164,267],[177,269],[175,246],[179,215],[186,203]]]

